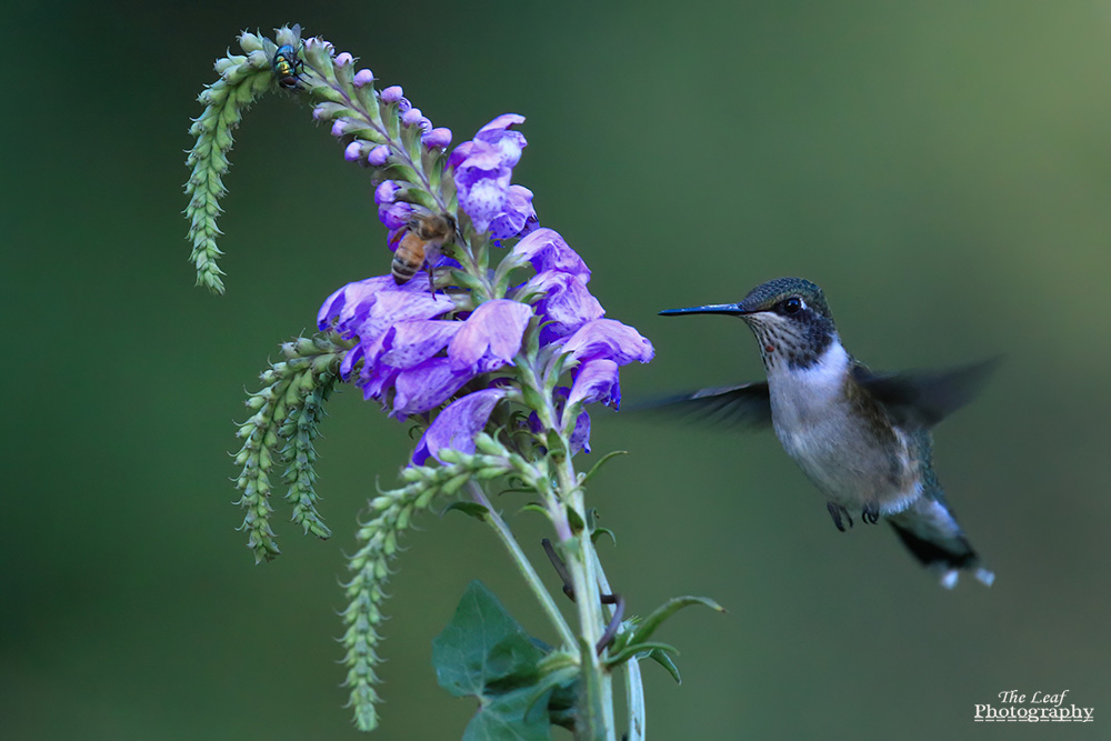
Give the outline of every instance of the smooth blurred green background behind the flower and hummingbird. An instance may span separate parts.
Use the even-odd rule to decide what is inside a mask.
[[[681,593],[729,609],[661,632],[684,681],[644,667],[650,738],[1049,738],[972,722],[1011,689],[1069,690],[1097,721],[1055,738],[1107,738],[1111,6],[579,6],[2,11],[0,735],[356,738],[337,581],[406,428],[334,398],[320,492],[336,535],[286,527],[264,567],[234,530],[227,451],[277,343],[387,270],[368,173],[307,108],[268,98],[226,179],[226,297],[193,288],[180,213],[212,61],[240,29],[297,21],[457,142],[528,117],[514,180],[609,316],[655,343],[627,401],[759,378],[739,322],[655,312],[784,274],[824,287],[874,368],[1007,354],[935,449],[990,590],[941,590],[887,528],[838,533],[770,434],[595,415],[594,458],[632,451],[590,491],[630,609]],[[536,520],[514,527],[542,559]],[[473,704],[429,657],[469,580],[551,638],[479,523],[421,525],[390,585],[377,738],[461,733]]]

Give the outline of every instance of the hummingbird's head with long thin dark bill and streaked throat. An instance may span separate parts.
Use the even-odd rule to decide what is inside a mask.
[[[757,336],[760,357],[771,371],[810,368],[830,342],[837,328],[822,289],[802,278],[777,278],[749,291],[738,303],[721,303],[660,312],[680,314],[731,314],[740,317]]]

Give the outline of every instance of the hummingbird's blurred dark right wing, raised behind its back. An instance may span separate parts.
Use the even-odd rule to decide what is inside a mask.
[[[852,378],[883,404],[895,424],[923,429],[972,401],[1000,360],[997,357],[960,368],[904,373],[873,373],[855,366]]]

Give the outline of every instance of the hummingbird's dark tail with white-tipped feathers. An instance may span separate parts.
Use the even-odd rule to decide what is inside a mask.
[[[943,501],[921,498],[907,510],[888,517],[899,540],[924,567],[941,573],[941,584],[952,589],[961,571],[991,587],[995,574],[980,565],[980,555]]]

